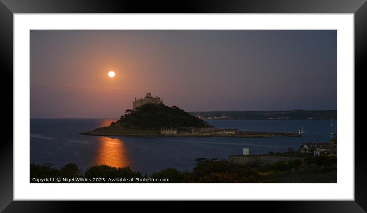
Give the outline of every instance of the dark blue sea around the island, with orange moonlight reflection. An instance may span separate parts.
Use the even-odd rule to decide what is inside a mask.
[[[206,120],[221,129],[243,131],[297,132],[302,137],[276,138],[161,138],[86,136],[87,132],[107,126],[116,119],[30,119],[30,163],[51,163],[56,168],[75,163],[85,171],[93,165],[129,166],[142,174],[175,167],[191,170],[196,158],[227,159],[228,155],[286,152],[298,150],[303,142],[329,141],[331,128],[337,132],[337,120]],[[331,126],[332,124],[332,126]],[[335,136],[334,136],[335,137]]]

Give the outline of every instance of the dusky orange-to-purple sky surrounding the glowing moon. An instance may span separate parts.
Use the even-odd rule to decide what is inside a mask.
[[[31,118],[119,118],[147,92],[185,111],[336,110],[337,31],[30,31]]]

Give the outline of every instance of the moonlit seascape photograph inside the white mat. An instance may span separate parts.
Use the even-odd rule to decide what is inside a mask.
[[[337,34],[31,29],[29,183],[338,183]]]

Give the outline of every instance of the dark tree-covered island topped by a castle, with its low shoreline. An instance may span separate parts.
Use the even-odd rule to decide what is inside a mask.
[[[148,93],[133,102],[134,110],[126,110],[109,126],[81,133],[95,136],[146,137],[299,137],[297,133],[246,132],[237,129],[218,129],[176,106],[168,107],[159,97]]]

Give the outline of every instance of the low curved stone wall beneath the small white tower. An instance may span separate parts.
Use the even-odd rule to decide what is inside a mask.
[[[290,162],[302,159],[303,157],[266,156],[266,155],[228,156],[228,162],[239,163],[244,165],[270,165],[281,161]]]

